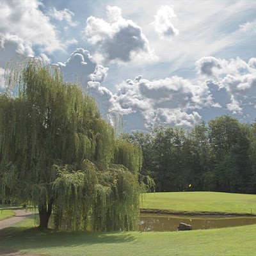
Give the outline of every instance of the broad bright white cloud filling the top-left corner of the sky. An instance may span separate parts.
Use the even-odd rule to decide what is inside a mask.
[[[39,9],[36,0],[1,0],[0,32],[16,35],[28,45],[37,45],[42,51],[63,49],[49,17]]]

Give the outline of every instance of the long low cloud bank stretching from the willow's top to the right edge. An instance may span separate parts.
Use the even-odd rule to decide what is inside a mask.
[[[56,65],[67,81],[79,76],[84,89],[99,102],[103,116],[122,115],[128,132],[159,124],[191,128],[202,120],[202,112],[207,109],[223,109],[243,117],[244,108],[256,108],[255,58],[246,63],[241,58],[207,56],[195,63],[196,81],[180,76],[152,80],[137,76],[116,84],[115,93],[102,85],[108,67],[95,62],[83,48]]]

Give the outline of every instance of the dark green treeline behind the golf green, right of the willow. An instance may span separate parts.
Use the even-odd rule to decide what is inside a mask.
[[[123,136],[140,145],[141,174],[154,179],[156,191],[256,193],[255,123],[223,115],[191,131],[159,126]]]

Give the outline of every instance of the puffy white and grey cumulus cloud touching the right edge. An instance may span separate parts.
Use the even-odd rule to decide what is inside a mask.
[[[246,63],[241,58],[225,60],[209,56],[196,61],[198,74],[210,77],[212,80],[208,83],[217,86],[215,90],[209,86],[212,98],[219,100],[214,106],[223,106],[233,114],[246,115],[246,106],[256,105],[255,60],[251,58]]]

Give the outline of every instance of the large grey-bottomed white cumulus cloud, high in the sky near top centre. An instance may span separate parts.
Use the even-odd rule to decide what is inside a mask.
[[[98,47],[97,54],[105,62],[128,62],[144,54],[148,60],[156,59],[140,26],[122,17],[117,6],[107,6],[108,21],[88,17],[84,33],[86,39]]]

